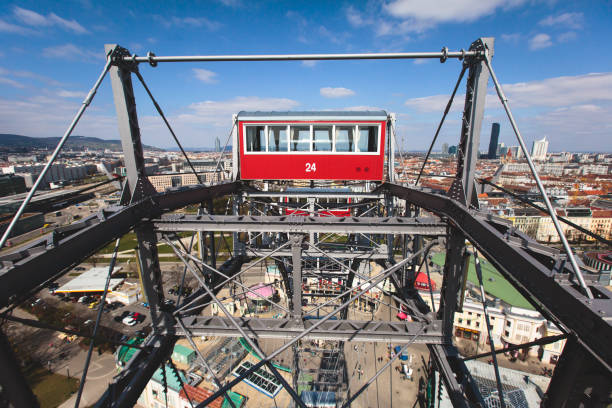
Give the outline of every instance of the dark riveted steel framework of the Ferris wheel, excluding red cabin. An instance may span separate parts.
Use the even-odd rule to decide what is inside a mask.
[[[558,251],[533,242],[503,220],[478,210],[474,199],[474,171],[492,39],[478,40],[468,51],[443,49],[439,53],[137,57],[118,46],[107,46],[106,51],[129,194],[120,206],[105,209],[0,258],[0,307],[6,311],[109,242],[131,230],[136,232],[139,274],[151,304],[153,331],[97,406],[132,406],[153,372],[167,361],[177,339],[183,336],[191,342],[194,336],[241,336],[260,356],[259,363],[238,378],[215,377],[218,389],[198,406],[224,395],[245,375],[264,365],[283,383],[295,404],[305,406],[296,390],[302,381],[300,372],[308,369],[294,362],[293,381],[287,381],[273,363],[284,352],[299,356],[304,350],[302,342],[313,340],[333,343],[336,353],[332,353],[333,361],[342,362],[340,367],[344,360],[338,353],[346,352],[347,341],[427,344],[433,367],[454,406],[483,405],[464,358],[452,343],[454,313],[460,308],[461,278],[465,274],[466,240],[568,338],[569,346],[555,371],[547,406],[558,406],[565,395],[578,401],[588,390],[594,390],[594,395],[605,394],[612,383],[609,381],[612,352],[608,345],[612,338],[612,293],[588,274],[583,281]],[[374,190],[330,193],[316,189],[289,192],[282,187],[262,188],[260,183],[240,181],[155,193],[148,182],[131,82],[139,63],[156,66],[170,61],[390,58],[440,58],[442,62],[458,58],[468,71],[459,171],[447,196],[394,183],[383,183]],[[295,208],[306,215],[286,215],[289,206],[281,201],[285,197],[305,199],[304,205]],[[319,201],[348,197],[353,200],[350,217],[327,216],[326,207]],[[231,214],[214,214],[214,200],[221,198],[228,199],[226,208],[231,209]],[[166,214],[191,204],[200,205],[195,215]],[[199,256],[192,251],[194,238],[187,248],[175,234],[178,232],[198,233]],[[164,302],[159,242],[170,245],[184,263],[184,273],[189,271],[198,281],[198,288],[175,306]],[[447,256],[441,303],[434,313],[413,284],[419,266],[435,245],[443,246]],[[253,295],[242,278],[264,266],[278,269],[278,282],[270,285],[281,289],[285,296],[260,305],[278,311],[279,315],[262,318],[229,311],[220,293],[229,288],[232,301]],[[584,285],[588,290],[584,290]],[[380,296],[372,296],[374,288]],[[589,292],[594,295],[588,296]],[[356,304],[363,308],[359,318],[350,315],[358,313],[353,310]],[[406,312],[412,321],[374,319],[374,312],[381,305],[394,313]],[[213,308],[222,314],[211,315]],[[268,339],[284,343],[264,353],[260,343]],[[9,346],[4,337],[1,340],[3,367],[17,371]],[[208,367],[199,351],[198,355]],[[353,396],[342,401],[344,405],[350,405],[386,367],[377,371],[364,387],[352,390]],[[343,368],[321,368],[320,373],[337,374],[339,369]],[[586,375],[589,372],[597,375]],[[18,373],[5,374],[0,381],[3,387],[10,387],[7,396],[11,402],[16,406],[35,406],[23,378]],[[581,376],[580,389],[568,391],[567,384],[577,376]],[[327,384],[328,379],[322,376],[315,383]]]

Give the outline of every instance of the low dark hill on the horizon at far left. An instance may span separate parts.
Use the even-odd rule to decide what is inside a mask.
[[[0,133],[1,152],[27,152],[31,149],[54,149],[59,143],[59,137],[29,137]],[[120,140],[107,140],[88,136],[70,136],[64,145],[72,149],[113,149],[121,150]],[[153,146],[143,145],[148,150],[163,150]]]

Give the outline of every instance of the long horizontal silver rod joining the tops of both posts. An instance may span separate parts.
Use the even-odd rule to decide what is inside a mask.
[[[220,62],[220,61],[324,61],[324,60],[376,60],[376,59],[463,59],[482,55],[480,51],[448,51],[437,52],[387,52],[363,54],[261,54],[261,55],[183,55],[158,57],[149,53],[146,57],[125,56],[125,62],[148,62],[156,65],[159,62]]]

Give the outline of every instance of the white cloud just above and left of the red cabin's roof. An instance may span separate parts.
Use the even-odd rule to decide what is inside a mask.
[[[189,113],[177,116],[183,124],[204,124],[229,127],[232,115],[240,111],[287,111],[299,102],[288,98],[260,98],[257,96],[237,96],[225,101],[202,101],[188,106]]]

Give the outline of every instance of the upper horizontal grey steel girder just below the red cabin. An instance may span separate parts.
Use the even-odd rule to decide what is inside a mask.
[[[158,231],[239,231],[341,234],[418,234],[442,236],[446,224],[435,218],[305,217],[169,214],[153,221]]]

